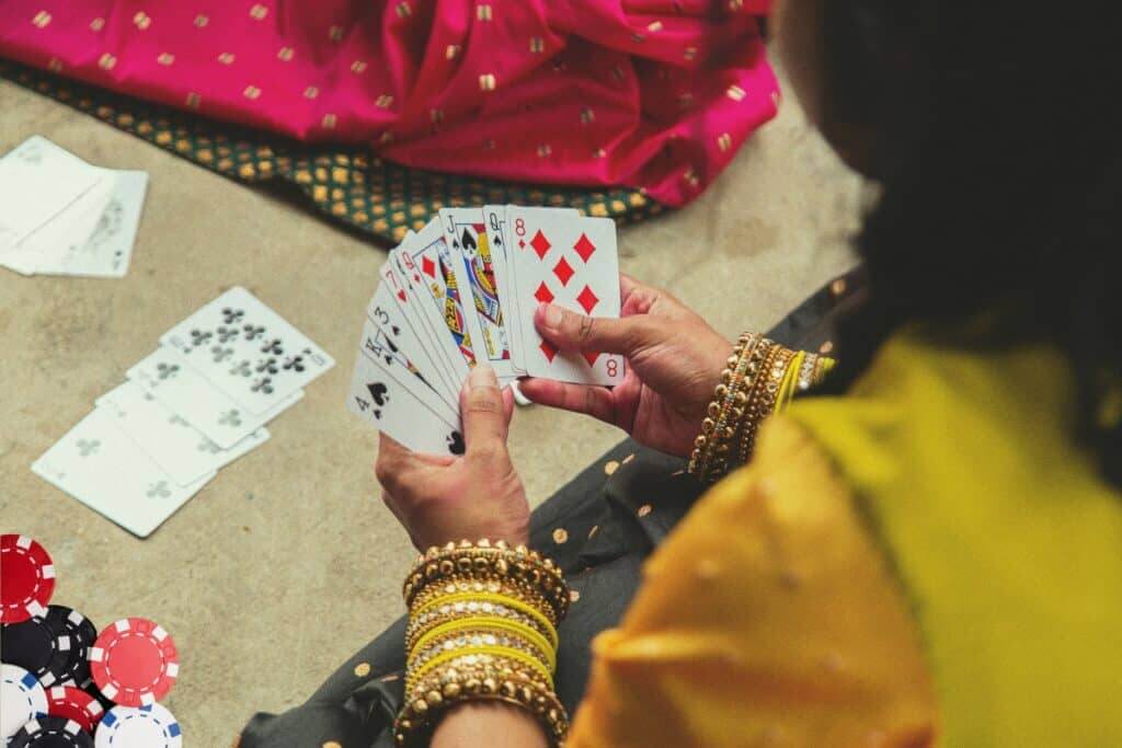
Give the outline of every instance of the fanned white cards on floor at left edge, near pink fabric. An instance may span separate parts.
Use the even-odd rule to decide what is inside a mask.
[[[0,266],[22,275],[120,278],[148,175],[91,166],[35,136],[0,158]]]

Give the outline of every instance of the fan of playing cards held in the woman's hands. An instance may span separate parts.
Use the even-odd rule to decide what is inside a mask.
[[[559,351],[541,304],[619,316],[611,219],[552,207],[440,211],[389,253],[367,308],[348,407],[404,446],[460,454],[460,386],[478,362],[499,382],[545,377],[615,385],[624,359]]]

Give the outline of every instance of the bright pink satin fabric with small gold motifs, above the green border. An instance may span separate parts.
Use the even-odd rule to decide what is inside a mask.
[[[3,0],[0,56],[305,141],[701,193],[775,114],[770,0]]]

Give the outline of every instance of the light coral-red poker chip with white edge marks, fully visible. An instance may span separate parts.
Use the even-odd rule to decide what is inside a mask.
[[[158,624],[122,618],[102,629],[90,648],[90,672],[110,701],[145,707],[163,699],[175,685],[180,654]]]

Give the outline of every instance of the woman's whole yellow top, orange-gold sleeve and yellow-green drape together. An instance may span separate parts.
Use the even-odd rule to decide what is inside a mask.
[[[570,748],[1122,746],[1122,497],[1072,397],[1048,350],[900,335],[793,404],[594,643]]]

